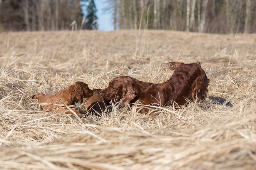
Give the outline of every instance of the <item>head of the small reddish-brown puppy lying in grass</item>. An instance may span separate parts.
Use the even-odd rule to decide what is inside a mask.
[[[71,98],[74,102],[80,102],[82,104],[84,98],[89,98],[93,95],[93,91],[84,82],[75,82],[70,87],[73,91]]]

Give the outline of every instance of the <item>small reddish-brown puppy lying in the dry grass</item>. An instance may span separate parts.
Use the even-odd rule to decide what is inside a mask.
[[[84,98],[91,97],[93,95],[93,91],[88,88],[88,85],[84,82],[75,82],[73,85],[70,85],[67,88],[57,92],[54,95],[51,94],[38,94],[38,95],[31,95],[30,98],[38,99],[41,104],[41,107],[46,111],[56,111],[56,112],[63,112],[67,114],[73,114],[67,107],[63,105],[75,105],[75,102],[82,102]],[[48,103],[48,104],[47,104]],[[74,107],[71,108],[79,117],[81,114],[78,110]]]

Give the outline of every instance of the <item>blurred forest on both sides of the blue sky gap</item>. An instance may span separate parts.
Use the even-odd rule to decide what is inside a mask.
[[[94,0],[0,0],[0,30],[97,29]],[[256,0],[102,0],[114,29],[255,33]],[[87,16],[82,6],[87,4]],[[94,21],[94,23],[93,23]],[[85,22],[85,24],[84,24]],[[94,27],[90,27],[91,24]],[[81,27],[81,24],[83,27]]]

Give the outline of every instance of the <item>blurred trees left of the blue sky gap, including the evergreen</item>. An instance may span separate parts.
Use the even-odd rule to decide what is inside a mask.
[[[83,4],[88,11],[85,21],[82,13]],[[94,0],[0,0],[0,29],[95,29],[96,11]]]

